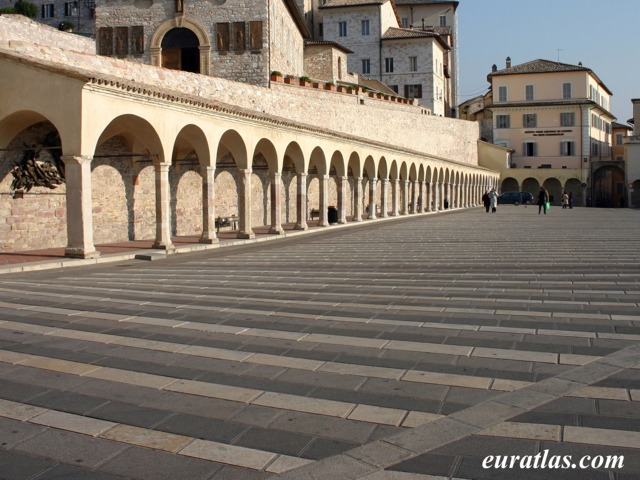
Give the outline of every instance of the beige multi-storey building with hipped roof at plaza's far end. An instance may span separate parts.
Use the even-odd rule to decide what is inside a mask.
[[[570,191],[575,205],[620,206],[624,174],[611,161],[611,91],[591,69],[549,60],[494,65],[493,143],[513,152],[502,190],[549,190],[558,203]]]

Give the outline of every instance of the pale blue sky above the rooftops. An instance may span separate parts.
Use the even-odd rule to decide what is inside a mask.
[[[590,68],[613,92],[611,113],[640,98],[640,0],[460,0],[459,101],[487,91],[495,63],[543,58]],[[560,49],[560,51],[558,51]]]

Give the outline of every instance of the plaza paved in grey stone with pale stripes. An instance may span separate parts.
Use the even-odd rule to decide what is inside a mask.
[[[639,239],[503,206],[5,273],[0,478],[638,479]]]

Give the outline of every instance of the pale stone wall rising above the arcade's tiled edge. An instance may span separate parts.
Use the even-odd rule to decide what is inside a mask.
[[[46,28],[40,26],[40,28]],[[106,76],[151,89],[205,98],[322,128],[354,139],[381,142],[467,165],[477,165],[478,125],[475,122],[425,115],[418,106],[363,98],[337,92],[273,84],[272,88],[151,67],[110,57],[80,54],[61,48],[13,40],[0,32],[0,50],[18,60],[38,62],[88,77]],[[38,38],[34,35],[32,39]],[[135,113],[135,112],[132,112]]]

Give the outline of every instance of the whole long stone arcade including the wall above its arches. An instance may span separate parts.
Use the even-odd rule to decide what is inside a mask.
[[[69,38],[0,17],[0,252],[66,245],[90,258],[134,239],[171,250],[176,236],[216,242],[219,215],[237,214],[251,238],[306,229],[311,209],[327,226],[330,205],[340,222],[470,207],[497,183],[477,164],[473,122],[95,56],[62,48]],[[52,131],[66,185],[17,195],[15,161]]]

